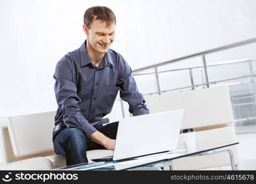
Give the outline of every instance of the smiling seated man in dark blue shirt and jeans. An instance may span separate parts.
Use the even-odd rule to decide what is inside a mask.
[[[115,38],[115,15],[107,7],[91,7],[83,17],[87,40],[58,61],[53,78],[58,110],[53,130],[56,154],[67,166],[87,163],[87,150],[114,150],[118,122],[98,125],[111,112],[118,90],[136,115],[149,113],[131,68],[109,49]]]

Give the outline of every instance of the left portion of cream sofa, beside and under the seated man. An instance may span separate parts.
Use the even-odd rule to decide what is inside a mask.
[[[55,112],[0,118],[0,170],[49,170],[66,166],[63,155],[53,151]],[[87,151],[88,161],[111,156],[113,151]]]

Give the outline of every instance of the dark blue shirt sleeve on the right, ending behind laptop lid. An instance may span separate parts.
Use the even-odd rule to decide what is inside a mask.
[[[128,66],[125,59],[118,55],[120,61],[118,62],[118,86],[120,89],[120,98],[128,102],[129,112],[134,116],[144,115],[149,113],[145,99],[139,93],[136,82],[131,74],[131,67]]]

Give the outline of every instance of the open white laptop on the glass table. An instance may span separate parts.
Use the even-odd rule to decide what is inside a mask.
[[[117,161],[177,148],[184,109],[123,118],[118,123],[114,155],[93,161]]]

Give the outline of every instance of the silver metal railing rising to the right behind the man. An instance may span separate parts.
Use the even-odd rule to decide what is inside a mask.
[[[228,45],[224,45],[222,47],[217,47],[217,48],[212,48],[209,50],[204,50],[203,52],[198,52],[198,53],[193,53],[190,55],[186,55],[186,56],[182,56],[176,59],[171,59],[169,61],[165,61],[165,62],[161,62],[158,64],[153,64],[150,66],[146,66],[146,67],[141,67],[139,69],[135,69],[133,70],[133,75],[148,75],[148,74],[154,74],[155,75],[155,81],[156,81],[156,91],[153,93],[147,93],[144,95],[149,95],[149,94],[161,94],[161,93],[165,93],[168,91],[176,91],[176,90],[183,90],[186,88],[191,88],[192,90],[195,90],[195,87],[198,86],[203,86],[206,88],[209,88],[211,84],[215,84],[215,83],[220,83],[220,82],[226,82],[226,81],[230,81],[230,80],[236,80],[236,79],[243,79],[243,78],[248,78],[248,77],[255,77],[256,75],[254,74],[253,70],[252,70],[252,61],[256,61],[256,59],[239,59],[239,60],[235,60],[235,61],[225,61],[225,62],[221,62],[221,63],[214,63],[214,64],[206,64],[206,55],[209,55],[211,53],[216,53],[216,52],[220,52],[223,50],[228,50],[231,48],[235,48],[235,47],[240,47],[242,45],[248,45],[248,44],[253,44],[256,43],[256,38],[253,39],[248,39],[248,40],[243,40],[241,42],[235,42],[233,44],[228,44]],[[195,67],[187,67],[187,68],[182,68],[182,69],[171,69],[171,70],[162,70],[162,71],[158,71],[158,67],[160,66],[165,66],[167,64],[171,64],[171,63],[176,63],[185,59],[191,59],[191,58],[195,58],[195,57],[199,57],[201,56],[201,61],[202,61],[202,65],[201,66],[195,66]],[[248,62],[249,63],[249,67],[250,67],[250,71],[251,74],[250,75],[244,75],[244,76],[240,76],[240,77],[235,77],[235,78],[231,78],[231,79],[225,79],[225,80],[218,80],[218,81],[212,81],[209,82],[208,79],[208,67],[211,66],[218,66],[218,65],[225,65],[225,64],[234,64],[234,63],[243,63],[243,62]],[[192,70],[193,69],[198,69],[201,68],[201,75],[202,75],[202,79],[203,79],[203,83],[195,85],[193,82],[193,73]],[[142,72],[148,69],[153,69],[153,71],[150,72]],[[172,71],[182,71],[182,70],[188,70],[189,71],[189,75],[190,75],[190,82],[191,85],[190,86],[184,86],[184,87],[180,87],[180,88],[174,88],[174,89],[170,89],[170,90],[161,90],[160,88],[160,82],[159,82],[159,76],[158,74],[161,72],[172,72]],[[251,82],[252,80],[250,80],[249,82]],[[123,102],[122,99],[117,99],[118,101],[120,101],[120,104],[122,106],[122,116],[125,117],[125,112],[124,112],[124,107],[123,107]]]

